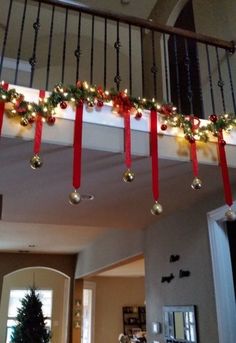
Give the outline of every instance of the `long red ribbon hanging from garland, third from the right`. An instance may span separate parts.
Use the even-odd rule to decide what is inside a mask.
[[[151,158],[152,158],[152,192],[154,200],[159,198],[159,173],[158,173],[158,135],[157,111],[151,110]]]

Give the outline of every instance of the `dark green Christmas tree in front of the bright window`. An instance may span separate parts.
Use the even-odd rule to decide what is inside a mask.
[[[17,324],[13,328],[11,343],[48,343],[51,333],[46,328],[42,302],[34,288],[21,300],[17,309]]]

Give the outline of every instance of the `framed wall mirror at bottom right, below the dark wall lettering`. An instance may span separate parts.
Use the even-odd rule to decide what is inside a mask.
[[[164,306],[166,343],[197,343],[196,306]]]

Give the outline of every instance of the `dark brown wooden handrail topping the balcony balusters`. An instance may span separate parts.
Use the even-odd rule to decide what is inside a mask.
[[[39,0],[33,0],[33,1],[39,2]],[[74,11],[95,15],[101,18],[107,18],[110,20],[119,21],[121,23],[130,24],[133,26],[138,26],[138,27],[142,27],[145,29],[149,29],[149,30],[153,30],[153,31],[161,32],[161,33],[177,35],[177,36],[185,37],[188,39],[193,39],[200,43],[204,43],[204,44],[208,44],[208,45],[212,45],[215,47],[228,50],[231,53],[234,53],[235,51],[235,42],[233,41],[226,41],[223,39],[218,39],[215,37],[203,35],[200,33],[192,32],[192,31],[188,31],[188,30],[184,30],[180,28],[154,23],[146,19],[141,19],[141,18],[127,16],[120,13],[112,13],[110,11],[103,11],[100,9],[91,8],[84,4],[76,3],[72,0],[40,0],[40,1],[45,4],[54,5],[54,6],[62,7],[62,8],[68,8]]]

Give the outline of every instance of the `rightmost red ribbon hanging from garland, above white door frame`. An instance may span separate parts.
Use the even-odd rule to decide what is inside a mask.
[[[232,191],[230,186],[229,180],[229,171],[225,153],[225,143],[223,140],[223,132],[222,130],[219,131],[218,134],[218,147],[219,147],[219,157],[220,157],[220,167],[221,173],[223,178],[223,185],[224,185],[224,193],[225,193],[225,202],[228,206],[232,206],[233,198],[232,198]]]

